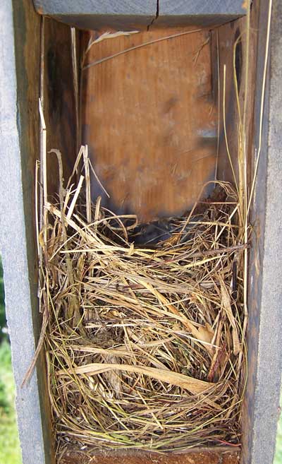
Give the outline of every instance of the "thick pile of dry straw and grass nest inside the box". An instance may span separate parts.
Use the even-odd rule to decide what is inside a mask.
[[[245,246],[231,184],[136,246],[135,217],[91,204],[84,147],[73,174],[83,153],[38,237],[59,448],[238,445]]]

